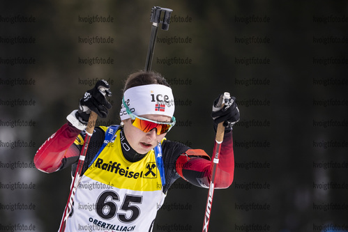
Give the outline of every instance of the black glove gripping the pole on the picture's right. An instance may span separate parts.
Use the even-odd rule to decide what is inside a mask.
[[[213,117],[214,129],[218,128],[218,124],[224,122],[222,125],[225,126],[225,132],[232,130],[234,123],[239,121],[239,109],[236,105],[236,98],[229,97],[223,98],[224,94],[220,94],[213,102],[213,112],[211,117]],[[222,103],[224,107],[221,108]]]

